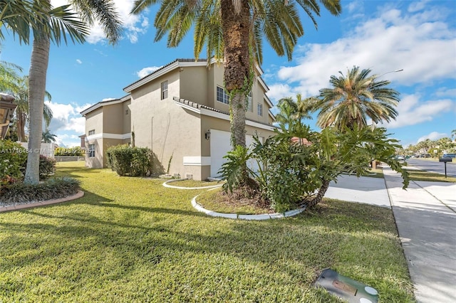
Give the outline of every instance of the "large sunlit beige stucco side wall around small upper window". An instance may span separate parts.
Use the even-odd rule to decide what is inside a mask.
[[[168,97],[160,100],[160,83],[165,80],[168,81]],[[187,168],[183,165],[184,156],[201,154],[201,126],[197,113],[176,105],[172,99],[180,96],[180,72],[168,73],[131,94],[136,146],[152,149],[164,172],[169,165],[169,174],[192,174],[194,179],[199,179],[201,169],[198,166]]]

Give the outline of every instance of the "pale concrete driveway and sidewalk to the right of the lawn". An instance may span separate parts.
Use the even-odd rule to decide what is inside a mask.
[[[456,302],[456,184],[410,181],[405,191],[400,174],[383,174],[340,176],[325,197],[391,207],[418,302]]]

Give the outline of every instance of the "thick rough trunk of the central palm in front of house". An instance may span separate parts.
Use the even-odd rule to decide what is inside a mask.
[[[231,99],[232,147],[245,147],[245,99],[252,88],[252,63],[249,55],[251,21],[249,1],[222,0],[224,41],[224,80]]]

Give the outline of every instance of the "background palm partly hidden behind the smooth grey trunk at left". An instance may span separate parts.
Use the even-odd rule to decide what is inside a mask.
[[[28,76],[19,79],[17,83],[16,91],[12,92],[16,100],[16,131],[19,141],[26,142],[25,127],[28,123],[29,110],[28,110]],[[48,100],[51,100],[51,94],[48,91],[44,92],[45,97]],[[53,117],[53,112],[51,107],[48,105],[43,105],[43,119],[45,122],[45,127],[47,128],[51,123]]]

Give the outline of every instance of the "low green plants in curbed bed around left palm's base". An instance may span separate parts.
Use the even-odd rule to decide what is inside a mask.
[[[1,187],[0,202],[25,203],[63,198],[77,193],[79,183],[78,180],[68,177],[51,178],[39,184],[16,182]]]

